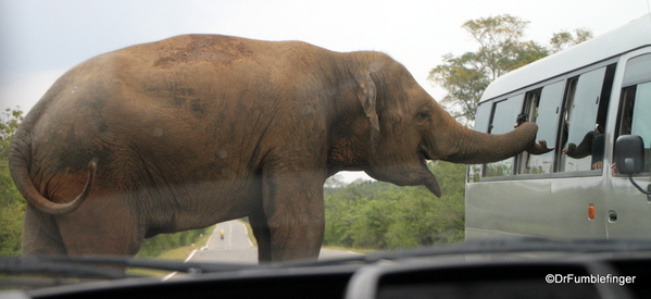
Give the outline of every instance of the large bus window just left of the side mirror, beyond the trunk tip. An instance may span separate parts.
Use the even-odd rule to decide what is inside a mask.
[[[608,68],[608,75],[606,75]],[[568,79],[559,172],[601,170],[603,137],[614,65]]]

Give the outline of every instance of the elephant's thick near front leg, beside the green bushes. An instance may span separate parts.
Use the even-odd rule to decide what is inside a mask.
[[[273,262],[317,259],[325,229],[325,174],[304,171],[267,172],[263,184],[264,213],[271,234]]]

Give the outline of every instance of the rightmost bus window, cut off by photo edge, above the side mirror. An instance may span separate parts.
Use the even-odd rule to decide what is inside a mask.
[[[628,61],[622,86],[617,136],[631,134],[642,137],[646,146],[643,172],[649,172],[651,126],[646,116],[651,115],[651,54]]]

